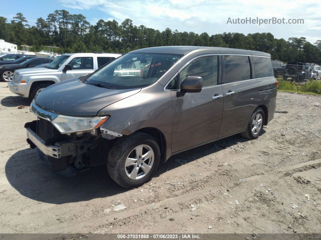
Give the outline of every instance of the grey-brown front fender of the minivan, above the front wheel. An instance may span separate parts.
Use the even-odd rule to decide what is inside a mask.
[[[102,127],[123,135],[142,128],[156,128],[164,134],[167,146],[171,146],[172,94],[163,91],[159,83],[108,105],[98,115],[110,115]]]

